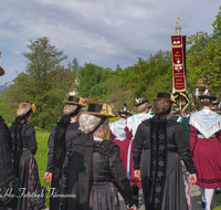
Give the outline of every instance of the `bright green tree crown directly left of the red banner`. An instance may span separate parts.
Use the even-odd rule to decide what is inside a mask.
[[[128,69],[127,87],[135,94],[152,98],[159,92],[171,93],[172,66],[171,53],[158,51],[145,61],[138,57],[137,64]]]

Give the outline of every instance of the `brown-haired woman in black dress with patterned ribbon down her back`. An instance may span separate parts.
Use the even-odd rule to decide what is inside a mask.
[[[170,94],[159,93],[154,98],[155,116],[138,126],[133,143],[135,177],[141,179],[146,210],[191,209],[180,158],[191,185],[197,181],[197,170],[182,125],[167,119],[172,103]]]

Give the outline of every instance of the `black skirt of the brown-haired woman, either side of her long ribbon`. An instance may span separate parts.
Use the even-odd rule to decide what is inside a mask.
[[[145,206],[148,203],[150,150],[145,150],[141,155],[140,176]],[[185,179],[180,157],[175,151],[168,151],[166,183],[162,193],[161,210],[189,210],[186,196]]]

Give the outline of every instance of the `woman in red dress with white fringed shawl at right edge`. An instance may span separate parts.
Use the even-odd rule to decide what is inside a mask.
[[[221,116],[211,111],[217,97],[208,90],[199,96],[202,111],[190,117],[190,145],[197,166],[202,207],[210,210],[215,188],[221,187]]]

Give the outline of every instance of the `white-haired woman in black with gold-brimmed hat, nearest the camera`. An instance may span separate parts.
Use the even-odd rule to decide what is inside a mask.
[[[117,188],[127,209],[136,210],[119,148],[105,139],[108,117],[113,116],[106,104],[90,104],[88,112],[80,116],[84,134],[73,141],[72,154],[64,162],[60,183],[63,195],[70,198],[62,209],[119,210]]]

